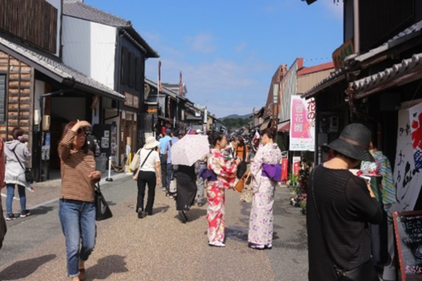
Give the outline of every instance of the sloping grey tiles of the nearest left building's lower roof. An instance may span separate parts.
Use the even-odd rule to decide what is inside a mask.
[[[43,55],[41,53],[31,50],[30,48],[13,43],[12,41],[9,41],[3,37],[0,37],[0,44],[6,46],[6,48],[9,48],[20,55],[23,55],[23,57],[39,65],[39,67],[43,67],[45,70],[58,75],[62,79],[74,79],[77,84],[82,84],[83,86],[87,86],[91,89],[101,91],[105,93],[106,96],[116,98],[117,100],[124,100],[125,98],[122,94],[117,93],[116,91],[113,91],[113,89],[108,88],[108,86],[101,84],[100,82],[92,79],[91,77],[87,77],[85,74],[82,74],[81,72],[72,69],[68,65],[65,65],[60,60],[58,60],[58,58]]]

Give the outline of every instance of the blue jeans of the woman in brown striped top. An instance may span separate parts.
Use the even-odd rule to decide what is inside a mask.
[[[68,276],[79,275],[79,260],[87,261],[95,245],[95,204],[78,200],[60,200],[58,216],[66,238]],[[82,242],[82,247],[80,244]],[[80,250],[79,250],[80,248]]]

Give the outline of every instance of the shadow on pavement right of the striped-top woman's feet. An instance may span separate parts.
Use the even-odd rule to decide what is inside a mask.
[[[110,255],[102,259],[98,259],[95,266],[87,268],[86,280],[106,280],[113,273],[126,273],[129,270],[126,268],[126,256]],[[119,280],[119,278],[115,278]]]

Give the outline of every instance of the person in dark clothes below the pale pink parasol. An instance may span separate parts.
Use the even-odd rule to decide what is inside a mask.
[[[176,209],[179,211],[180,221],[186,223],[186,211],[191,209],[196,197],[195,166],[175,165],[174,169],[177,170]]]

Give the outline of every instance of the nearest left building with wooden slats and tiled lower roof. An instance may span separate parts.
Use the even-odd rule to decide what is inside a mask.
[[[7,19],[0,20],[0,134],[11,139],[15,126],[24,129],[30,166],[41,181],[59,168],[63,124],[92,122],[99,97],[119,102],[124,96],[60,59],[61,0],[0,1],[0,11]]]

